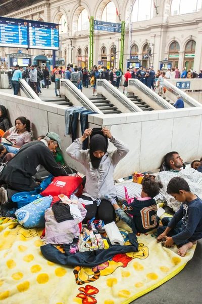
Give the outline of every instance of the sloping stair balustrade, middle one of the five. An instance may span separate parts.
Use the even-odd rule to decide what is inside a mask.
[[[143,112],[138,106],[136,106],[130,99],[123,95],[119,90],[115,89],[106,79],[97,79],[97,86],[103,86],[112,95],[116,95],[116,98],[130,111],[132,112]]]

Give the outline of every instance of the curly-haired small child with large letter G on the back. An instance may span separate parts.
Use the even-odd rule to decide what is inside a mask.
[[[115,213],[132,228],[134,233],[146,233],[159,225],[157,203],[154,197],[159,194],[160,185],[149,176],[142,182],[141,197],[135,198],[131,204],[128,204],[126,200],[122,202],[123,209],[133,217],[129,216],[115,200],[111,199]]]

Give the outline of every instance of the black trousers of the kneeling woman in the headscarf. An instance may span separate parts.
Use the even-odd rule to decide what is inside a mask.
[[[81,198],[84,200],[90,199],[86,196],[81,196]],[[96,201],[93,201],[93,204],[86,205],[85,209],[87,210],[87,213],[83,220],[83,223],[87,223],[87,221],[93,217],[95,217],[95,219],[102,219],[105,224],[109,224],[116,219],[114,207],[108,200],[102,200],[99,206],[96,205]]]

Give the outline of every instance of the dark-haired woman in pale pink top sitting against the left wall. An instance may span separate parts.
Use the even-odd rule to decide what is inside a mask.
[[[10,128],[3,138],[9,139],[13,143],[13,147],[21,148],[25,143],[31,141],[30,121],[25,117],[18,117],[15,121],[15,127]]]

